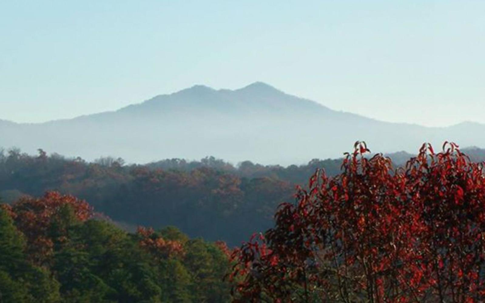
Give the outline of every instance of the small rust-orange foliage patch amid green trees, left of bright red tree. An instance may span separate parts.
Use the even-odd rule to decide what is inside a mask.
[[[182,243],[163,239],[153,228],[140,226],[137,229],[137,235],[140,237],[140,246],[160,260],[185,255]]]

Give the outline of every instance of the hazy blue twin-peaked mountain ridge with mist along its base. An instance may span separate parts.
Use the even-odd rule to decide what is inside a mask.
[[[29,153],[43,148],[85,159],[123,156],[129,162],[212,155],[293,164],[339,158],[357,140],[373,152],[416,153],[423,142],[484,146],[484,139],[481,124],[428,128],[382,122],[334,111],[262,82],[237,90],[196,85],[118,111],[41,124],[0,120],[3,147]]]

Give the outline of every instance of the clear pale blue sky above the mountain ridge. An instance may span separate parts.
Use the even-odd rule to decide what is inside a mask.
[[[0,119],[263,81],[390,122],[485,123],[485,1],[0,1]]]

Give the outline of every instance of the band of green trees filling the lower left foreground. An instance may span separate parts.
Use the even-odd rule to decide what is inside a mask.
[[[43,267],[32,265],[28,238],[15,224],[14,207],[0,207],[0,302],[228,302],[223,277],[226,255],[212,243],[189,239],[173,226],[154,234],[181,243],[178,255],[155,254],[140,236],[113,223],[81,221],[62,205],[48,219],[52,254]],[[10,211],[10,214],[8,211]],[[158,238],[157,238],[158,237]],[[163,255],[163,254],[162,254]]]

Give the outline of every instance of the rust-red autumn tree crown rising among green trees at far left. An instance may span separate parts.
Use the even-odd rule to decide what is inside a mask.
[[[27,249],[35,263],[42,263],[52,254],[54,239],[49,228],[59,210],[66,206],[81,222],[93,215],[93,208],[86,201],[57,191],[48,191],[41,198],[22,197],[8,207],[17,228],[26,236]]]

